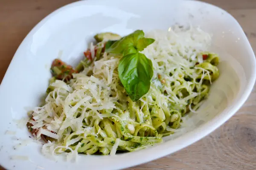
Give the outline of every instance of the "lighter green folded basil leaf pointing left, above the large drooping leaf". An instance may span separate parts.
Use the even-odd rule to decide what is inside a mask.
[[[125,49],[136,47],[139,39],[144,37],[142,30],[136,30],[132,34],[123,37],[121,40],[116,41],[106,52],[122,54]]]

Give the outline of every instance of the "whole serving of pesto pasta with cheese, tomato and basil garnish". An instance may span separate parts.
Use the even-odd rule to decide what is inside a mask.
[[[46,154],[115,154],[162,142],[183,127],[218,79],[218,55],[200,28],[95,36],[76,68],[52,62],[44,104],[27,123]]]

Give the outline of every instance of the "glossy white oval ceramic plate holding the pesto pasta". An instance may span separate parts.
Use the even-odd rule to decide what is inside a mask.
[[[61,57],[75,65],[98,32],[125,35],[136,29],[167,30],[175,23],[199,25],[212,33],[212,50],[221,56],[221,75],[201,112],[190,115],[192,124],[187,130],[165,137],[165,142],[154,147],[117,156],[81,155],[77,163],[46,159],[40,152],[41,144],[35,142],[14,150],[15,144],[30,138],[27,129],[17,128],[13,119],[26,116],[27,108],[38,104],[47,88],[49,66],[54,58]],[[230,14],[218,7],[180,0],[72,3],[49,14],[32,29],[6,72],[0,86],[0,164],[9,170],[35,170],[39,169],[37,166],[46,170],[107,170],[160,158],[196,142],[227,121],[249,96],[255,77],[255,56],[244,31]],[[198,122],[198,116],[206,116],[207,121]],[[5,134],[6,130],[16,131],[16,135]],[[29,160],[11,159],[12,156],[28,156]]]

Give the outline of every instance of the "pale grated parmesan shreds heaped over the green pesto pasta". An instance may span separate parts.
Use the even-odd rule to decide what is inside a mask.
[[[130,114],[128,110],[123,111],[117,106],[128,100],[124,87],[120,85],[117,71],[122,56],[111,56],[104,53],[103,58],[94,62],[93,66],[84,68],[81,73],[73,74],[73,79],[69,84],[60,80],[53,82],[51,86],[54,90],[45,99],[46,105],[34,108],[32,116],[35,121],[29,120],[29,122],[33,125],[32,128],[39,129],[37,139],[41,138],[41,134],[57,139],[56,142],[49,141],[43,145],[42,153],[44,155],[53,158],[55,153],[70,150],[70,153],[66,153],[67,160],[77,160],[81,143],[84,145],[84,143],[90,142],[86,139],[88,134],[95,137],[105,135],[105,132],[102,133],[102,127],[97,129],[94,126],[96,122],[94,120],[111,117],[113,109],[121,110],[119,111],[122,113],[119,115],[120,120],[127,123],[140,119],[136,122],[140,124],[144,123],[144,106],[157,105],[164,109],[168,108],[171,102],[174,103],[173,107],[181,109],[186,108],[189,99],[200,95],[200,93],[192,91],[191,82],[181,83],[178,79],[186,75],[194,80],[198,77],[198,74],[194,70],[191,71],[190,68],[194,67],[197,62],[203,62],[202,55],[198,55],[198,53],[209,47],[211,36],[200,28],[190,28],[184,31],[182,28],[173,27],[169,29],[169,32],[151,31],[145,37],[155,39],[153,44],[142,51],[146,57],[151,59],[154,75],[148,94],[140,99],[142,107],[132,106],[135,113]],[[90,52],[94,58],[95,46],[93,43],[90,44]],[[203,72],[201,78],[208,76],[210,80],[209,71],[203,68],[199,69]],[[92,73],[90,74],[92,76],[87,76],[88,73]],[[173,82],[173,85],[166,85],[167,82]],[[202,82],[197,83],[202,84]],[[189,89],[189,95],[183,97],[179,91],[180,88]],[[163,94],[163,91],[166,94]],[[191,105],[189,105],[189,109],[193,111]],[[130,117],[132,114],[136,114],[136,118]],[[130,124],[130,122],[126,124],[126,127],[131,134],[134,134],[136,124]],[[150,121],[145,123],[148,126],[152,125]],[[183,126],[184,123],[180,123],[180,125]],[[173,129],[167,125],[166,130],[180,132],[183,129]],[[75,132],[77,136],[66,141],[71,132]],[[113,134],[114,136],[120,135],[116,132]],[[119,138],[115,140],[112,149],[111,145],[108,148],[108,152],[111,150],[111,155],[114,155],[118,149]],[[71,146],[75,143],[78,143],[76,147]]]

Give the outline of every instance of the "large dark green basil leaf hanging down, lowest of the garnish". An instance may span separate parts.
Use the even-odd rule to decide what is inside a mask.
[[[119,62],[118,75],[127,94],[133,101],[137,101],[150,88],[152,62],[142,53],[128,54]]]

